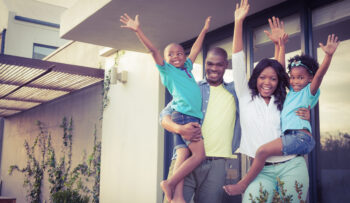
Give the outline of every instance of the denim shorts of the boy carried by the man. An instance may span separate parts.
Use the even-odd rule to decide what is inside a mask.
[[[173,120],[175,123],[180,124],[180,125],[185,125],[185,124],[190,123],[190,122],[196,122],[196,123],[200,122],[199,118],[189,116],[189,115],[177,112],[177,111],[174,111],[171,114],[171,120]],[[173,133],[173,135],[175,136],[174,150],[176,150],[178,148],[187,148],[187,146],[191,143],[191,141],[183,139],[182,136],[179,134]]]

